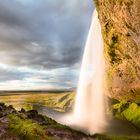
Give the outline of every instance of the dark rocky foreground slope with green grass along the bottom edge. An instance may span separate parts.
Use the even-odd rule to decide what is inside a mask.
[[[17,111],[0,103],[0,140],[140,140],[138,137],[94,136],[61,125],[36,110]]]

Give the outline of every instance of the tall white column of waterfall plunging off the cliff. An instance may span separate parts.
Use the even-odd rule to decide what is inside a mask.
[[[93,13],[80,72],[74,106],[74,121],[88,132],[102,131],[104,109],[104,51],[98,13]]]

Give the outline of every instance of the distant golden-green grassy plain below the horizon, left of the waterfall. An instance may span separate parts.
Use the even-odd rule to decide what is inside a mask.
[[[48,93],[48,92],[22,92],[22,93],[6,93],[0,95],[0,102],[6,105],[13,105],[14,108],[20,110],[33,109],[33,105],[41,105],[53,108],[54,110],[65,112],[71,109],[75,97],[75,92]]]

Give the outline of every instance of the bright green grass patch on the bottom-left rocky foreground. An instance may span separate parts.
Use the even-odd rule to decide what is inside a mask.
[[[9,131],[26,140],[51,140],[47,137],[42,126],[30,119],[14,114],[8,115],[10,119]]]

